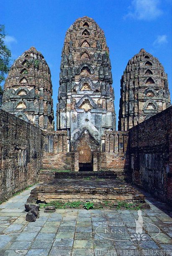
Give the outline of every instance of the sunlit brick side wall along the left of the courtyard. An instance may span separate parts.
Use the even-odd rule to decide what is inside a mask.
[[[0,110],[0,201],[38,181],[41,142],[39,128]]]

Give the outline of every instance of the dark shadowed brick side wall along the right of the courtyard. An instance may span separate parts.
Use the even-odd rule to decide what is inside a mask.
[[[172,106],[129,130],[133,182],[172,201]]]

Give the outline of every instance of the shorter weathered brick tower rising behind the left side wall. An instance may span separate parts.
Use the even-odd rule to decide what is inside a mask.
[[[54,131],[51,73],[35,47],[12,65],[5,81],[2,109],[47,131]]]

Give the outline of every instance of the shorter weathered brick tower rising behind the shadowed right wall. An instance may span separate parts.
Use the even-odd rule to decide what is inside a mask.
[[[118,130],[127,131],[169,106],[167,74],[157,58],[141,49],[121,78]]]

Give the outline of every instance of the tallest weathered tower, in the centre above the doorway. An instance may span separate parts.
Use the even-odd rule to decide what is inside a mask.
[[[80,152],[82,163],[100,151],[105,131],[116,129],[112,82],[103,30],[92,18],[77,19],[64,40],[56,115],[57,130],[67,129],[68,149]]]

